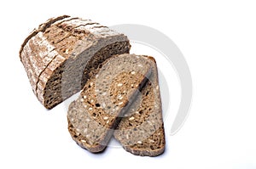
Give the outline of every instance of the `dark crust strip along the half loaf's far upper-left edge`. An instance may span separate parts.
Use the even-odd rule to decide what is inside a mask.
[[[21,47],[20,47],[20,52],[19,52],[19,55],[20,55],[20,59],[21,59],[21,53],[22,53],[22,50],[23,48],[25,47],[26,43],[34,36],[36,36],[38,34],[38,32],[40,31],[45,31],[47,28],[49,28],[50,25],[52,25],[53,23],[55,23],[56,21],[58,20],[63,20],[64,18],[68,18],[70,16],[68,15],[61,15],[61,16],[58,16],[56,18],[51,18],[49,20],[47,20],[44,24],[41,24],[38,26],[38,29],[35,29],[34,31],[32,31],[30,33],[30,35],[28,37],[26,37],[26,39],[24,40],[24,42],[22,43]]]

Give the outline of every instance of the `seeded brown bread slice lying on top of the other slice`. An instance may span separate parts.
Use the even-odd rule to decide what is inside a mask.
[[[68,131],[77,144],[91,152],[106,148],[113,129],[147,82],[151,62],[135,54],[116,55],[104,62],[67,112]]]

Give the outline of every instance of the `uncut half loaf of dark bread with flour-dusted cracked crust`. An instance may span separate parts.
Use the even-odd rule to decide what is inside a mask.
[[[79,92],[105,59],[130,48],[125,35],[107,26],[63,15],[32,31],[21,45],[20,60],[33,93],[51,109]]]

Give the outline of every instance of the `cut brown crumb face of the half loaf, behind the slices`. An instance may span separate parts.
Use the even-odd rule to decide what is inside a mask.
[[[74,93],[78,93],[84,87],[85,82],[96,74],[98,67],[102,66],[104,60],[110,58],[112,54],[129,53],[129,50],[129,41],[113,42],[97,51],[87,64],[84,63],[84,57],[86,56],[81,55],[72,62],[70,70],[67,69],[67,67],[71,67],[68,66],[70,64],[67,62],[66,65],[61,65],[46,82],[46,87],[44,87],[44,106],[47,109],[51,109],[61,103],[62,100],[69,98]],[[88,51],[88,55],[90,53],[93,53],[93,51]],[[64,72],[64,74],[61,74],[61,72]]]

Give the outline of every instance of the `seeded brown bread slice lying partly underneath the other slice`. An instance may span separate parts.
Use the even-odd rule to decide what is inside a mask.
[[[166,140],[155,62],[151,76],[138,96],[119,122],[114,138],[134,155],[160,155],[165,150]]]

